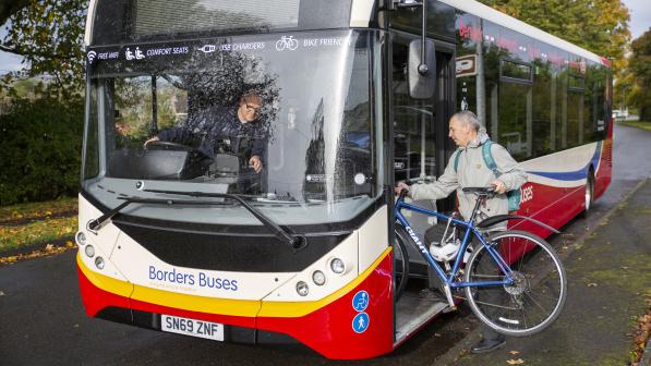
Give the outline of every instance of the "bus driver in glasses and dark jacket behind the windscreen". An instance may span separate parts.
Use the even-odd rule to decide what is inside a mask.
[[[262,131],[258,117],[262,109],[262,98],[255,91],[244,93],[237,108],[212,107],[203,113],[195,114],[192,123],[161,131],[158,135],[147,139],[147,144],[156,141],[190,142],[201,139],[198,149],[206,156],[214,158],[218,141],[222,141],[230,150],[238,151],[240,136],[252,138],[251,158],[249,166],[260,173],[263,168],[262,157],[266,148],[266,138]],[[190,121],[189,121],[190,122]],[[204,132],[196,132],[191,126],[204,125]]]

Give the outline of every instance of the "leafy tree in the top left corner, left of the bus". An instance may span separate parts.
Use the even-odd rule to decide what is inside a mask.
[[[22,56],[24,68],[8,74],[2,84],[10,85],[16,76],[45,74],[52,77],[61,97],[79,95],[84,80],[86,7],[85,0],[5,1],[0,10],[11,16],[0,50]]]

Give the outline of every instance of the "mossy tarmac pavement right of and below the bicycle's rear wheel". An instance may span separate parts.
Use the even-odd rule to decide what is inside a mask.
[[[556,248],[568,276],[560,317],[547,329],[487,354],[468,350],[481,327],[435,361],[435,365],[629,365],[638,317],[651,302],[651,180],[642,181],[612,208],[594,231]],[[563,251],[567,249],[566,256]],[[649,365],[651,342],[640,366]]]

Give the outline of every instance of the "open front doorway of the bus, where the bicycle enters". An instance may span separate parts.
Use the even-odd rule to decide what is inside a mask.
[[[418,178],[435,180],[445,170],[445,163],[451,151],[449,138],[447,138],[447,121],[455,106],[453,97],[455,77],[451,69],[454,47],[445,47],[445,45],[439,47],[436,42],[436,91],[430,99],[413,99],[409,96],[407,75],[409,42],[420,38],[403,33],[394,33],[393,36],[390,99],[395,181]],[[414,204],[427,209],[436,209],[434,200],[419,200]],[[453,207],[447,202],[444,202],[443,206],[445,209]],[[420,237],[424,237],[425,231],[436,223],[435,218],[409,211],[403,213]],[[411,329],[417,326],[414,319],[426,321],[438,313],[434,309],[439,308],[420,302],[419,291],[436,285],[437,278],[434,278],[434,272],[431,272],[415,248],[408,245],[407,252],[411,280],[395,306],[397,342],[415,329]],[[418,321],[418,326],[420,325],[422,322]]]

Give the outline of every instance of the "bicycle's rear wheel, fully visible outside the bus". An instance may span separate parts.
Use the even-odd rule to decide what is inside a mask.
[[[567,296],[565,269],[554,249],[539,236],[505,231],[489,239],[509,264],[513,284],[466,288],[474,315],[495,331],[523,337],[548,327],[563,310]],[[466,267],[466,281],[502,281],[506,276],[482,245]]]

